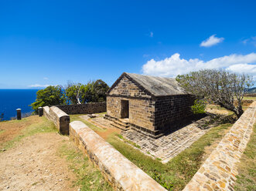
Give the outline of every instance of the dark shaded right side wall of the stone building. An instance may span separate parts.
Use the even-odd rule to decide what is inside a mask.
[[[155,130],[166,131],[179,126],[193,116],[191,106],[195,98],[192,95],[170,95],[155,98]]]

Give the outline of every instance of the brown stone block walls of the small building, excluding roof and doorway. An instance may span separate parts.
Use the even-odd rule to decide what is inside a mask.
[[[121,101],[129,102],[129,123],[154,136],[168,132],[193,115],[193,96],[187,94],[154,96],[123,75],[107,94],[107,115],[121,118]]]

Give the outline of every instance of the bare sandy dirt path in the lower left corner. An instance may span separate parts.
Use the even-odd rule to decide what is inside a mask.
[[[39,133],[0,152],[0,190],[77,190],[70,188],[76,176],[66,159],[56,155],[67,140],[56,132]]]

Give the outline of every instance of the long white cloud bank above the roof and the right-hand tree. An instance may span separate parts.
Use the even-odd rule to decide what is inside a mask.
[[[176,53],[160,61],[151,59],[142,66],[143,74],[163,77],[176,77],[200,69],[227,69],[230,72],[247,73],[256,78],[256,53],[225,55],[207,62],[201,59],[180,59],[179,53]]]

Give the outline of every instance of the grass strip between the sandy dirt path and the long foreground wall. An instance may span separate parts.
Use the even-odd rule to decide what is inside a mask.
[[[73,144],[64,142],[58,149],[58,154],[67,160],[69,168],[77,176],[73,186],[79,186],[80,190],[113,190],[104,180],[101,171]]]

